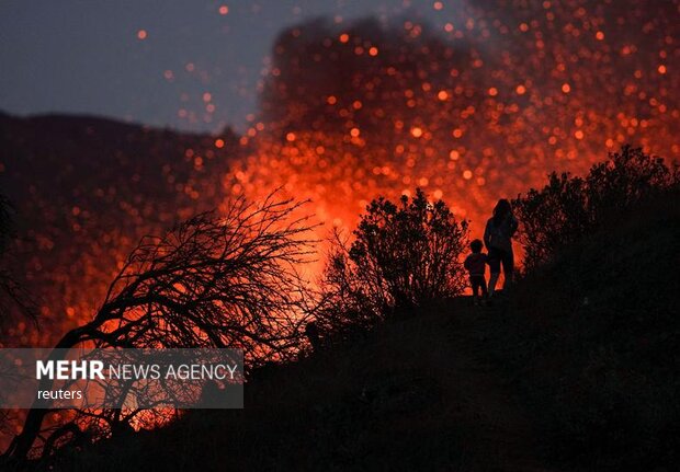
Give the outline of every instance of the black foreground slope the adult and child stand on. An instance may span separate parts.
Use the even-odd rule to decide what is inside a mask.
[[[194,411],[54,470],[672,470],[677,197],[525,277],[254,372],[243,411]]]

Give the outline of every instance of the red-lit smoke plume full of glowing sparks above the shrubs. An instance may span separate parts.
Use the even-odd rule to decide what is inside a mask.
[[[351,227],[377,194],[422,187],[478,230],[497,198],[623,142],[678,157],[677,4],[456,5],[443,31],[412,12],[283,32],[233,192],[285,184]]]

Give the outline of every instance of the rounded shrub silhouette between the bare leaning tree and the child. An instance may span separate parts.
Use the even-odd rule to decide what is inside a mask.
[[[337,234],[329,256],[321,320],[327,327],[342,319],[366,325],[456,296],[465,286],[458,256],[467,221],[456,221],[443,200],[430,203],[421,189],[398,204],[371,202],[353,235],[348,245]]]

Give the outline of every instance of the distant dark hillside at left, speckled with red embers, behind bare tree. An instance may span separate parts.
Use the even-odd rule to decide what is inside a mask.
[[[90,316],[141,235],[219,205],[238,151],[234,134],[220,138],[218,149],[213,136],[105,118],[0,115],[0,194],[21,235],[12,266],[44,315],[39,338],[2,334],[49,344],[50,320]]]

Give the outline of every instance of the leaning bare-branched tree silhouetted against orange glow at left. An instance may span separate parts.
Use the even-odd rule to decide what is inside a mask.
[[[248,365],[294,356],[306,303],[298,269],[311,243],[308,219],[295,217],[301,206],[276,202],[275,194],[261,205],[241,197],[224,216],[202,214],[162,237],[144,238],[92,321],[67,332],[55,347],[242,348]],[[42,379],[38,388],[50,385]],[[29,412],[5,456],[26,457],[46,413]],[[112,430],[137,413],[79,412],[77,418]]]

